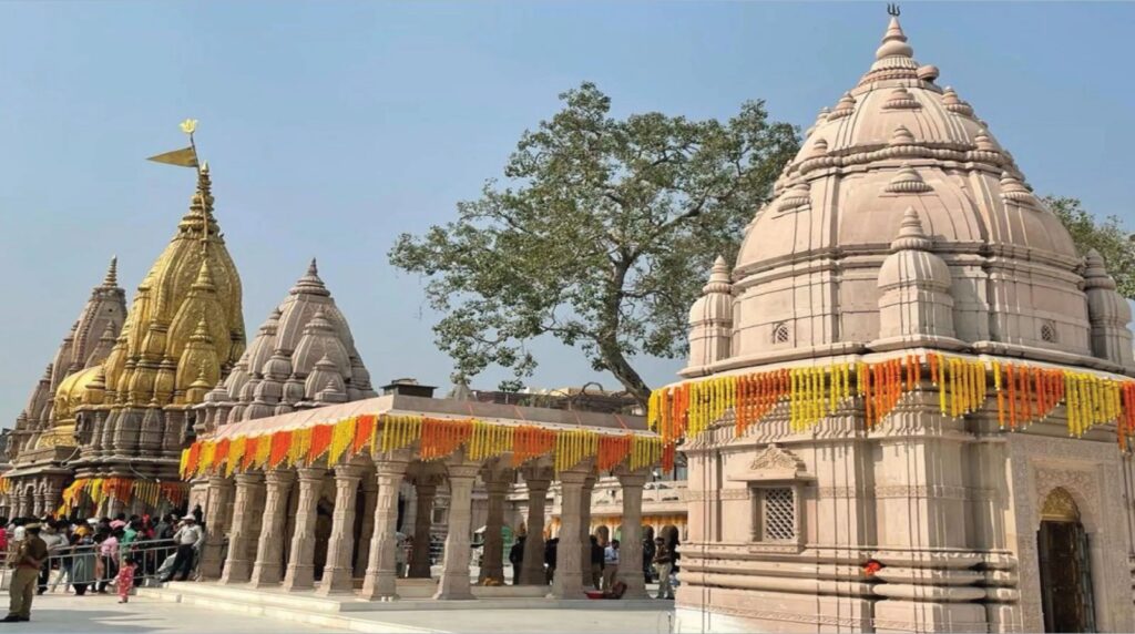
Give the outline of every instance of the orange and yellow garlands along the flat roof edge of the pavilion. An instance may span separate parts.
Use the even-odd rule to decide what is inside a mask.
[[[621,463],[638,470],[656,464],[673,468],[673,446],[653,433],[594,429],[548,429],[478,419],[432,419],[421,415],[360,415],[335,423],[255,436],[204,439],[182,451],[183,479],[216,473],[226,476],[252,468],[310,465],[327,456],[335,465],[362,453],[380,455],[418,443],[423,460],[445,458],[464,447],[470,459],[510,454],[512,464],[549,455],[555,471],[596,457],[599,468]]]

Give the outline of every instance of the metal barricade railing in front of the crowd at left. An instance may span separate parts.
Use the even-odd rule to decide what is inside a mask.
[[[67,546],[48,556],[40,573],[41,592],[110,592],[127,557],[134,559],[134,586],[158,585],[177,551],[174,540],[138,540],[128,544]]]

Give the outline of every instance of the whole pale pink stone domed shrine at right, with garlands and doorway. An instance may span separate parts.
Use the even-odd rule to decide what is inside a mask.
[[[1129,321],[892,17],[653,397],[687,439],[679,629],[1135,628]]]

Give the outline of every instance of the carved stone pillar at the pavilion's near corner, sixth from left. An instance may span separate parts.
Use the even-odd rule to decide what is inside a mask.
[[[363,599],[394,600],[397,593],[397,548],[395,535],[398,524],[398,488],[406,472],[405,460],[376,458],[375,477],[378,481],[373,510],[373,536],[370,539],[367,576],[362,582]]]

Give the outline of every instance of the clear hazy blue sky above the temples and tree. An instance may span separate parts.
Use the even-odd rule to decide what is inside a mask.
[[[128,291],[192,193],[149,163],[201,120],[252,332],[319,257],[376,382],[447,384],[400,231],[454,215],[556,95],[619,115],[729,117],[765,99],[807,127],[869,66],[882,2],[0,3],[0,424],[23,407],[107,260]],[[1130,3],[903,5],[922,64],[990,122],[1039,193],[1132,218]],[[553,341],[533,386],[596,377]],[[675,361],[645,360],[651,383]],[[478,386],[495,387],[506,372]]]

